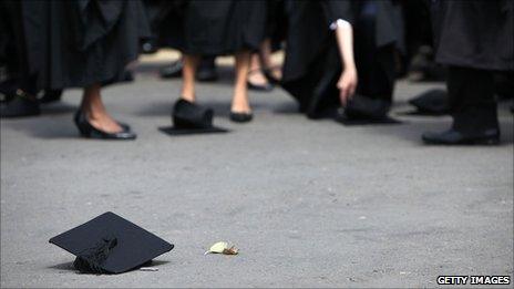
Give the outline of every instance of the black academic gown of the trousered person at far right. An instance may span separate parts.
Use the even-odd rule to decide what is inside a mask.
[[[434,1],[436,61],[481,70],[514,70],[514,1]]]

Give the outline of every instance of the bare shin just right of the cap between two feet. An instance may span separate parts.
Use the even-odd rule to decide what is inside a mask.
[[[246,80],[250,65],[250,52],[240,51],[236,53],[236,83],[234,85],[234,99],[232,101],[232,111],[235,113],[250,113],[248,101],[248,87]]]

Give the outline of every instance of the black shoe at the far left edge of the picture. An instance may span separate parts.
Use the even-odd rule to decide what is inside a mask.
[[[21,90],[18,90],[14,95],[0,104],[0,117],[20,117],[39,114],[38,100]]]

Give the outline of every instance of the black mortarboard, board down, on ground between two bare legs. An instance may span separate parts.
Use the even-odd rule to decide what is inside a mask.
[[[169,135],[226,133],[227,130],[213,125],[214,112],[186,100],[175,102],[172,112],[173,126],[160,127]]]

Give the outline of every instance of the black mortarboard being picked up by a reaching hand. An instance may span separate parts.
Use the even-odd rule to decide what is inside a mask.
[[[345,125],[400,124],[388,115],[389,107],[390,103],[384,100],[356,94],[338,111],[336,121]]]

